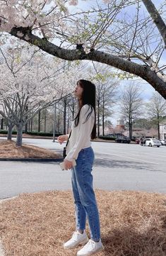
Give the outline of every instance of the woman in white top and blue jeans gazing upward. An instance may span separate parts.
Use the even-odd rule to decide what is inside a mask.
[[[100,221],[93,191],[93,176],[91,174],[94,153],[90,138],[96,135],[95,126],[95,84],[87,80],[79,80],[74,91],[78,99],[78,113],[73,119],[71,135],[66,148],[64,159],[65,169],[71,169],[74,203],[76,206],[76,231],[72,238],[64,243],[64,249],[71,249],[84,245],[77,252],[77,256],[92,255],[103,250],[100,239]],[[68,139],[68,135],[61,135],[59,143]],[[73,167],[73,160],[76,166]],[[86,216],[90,227],[90,240],[85,232]]]

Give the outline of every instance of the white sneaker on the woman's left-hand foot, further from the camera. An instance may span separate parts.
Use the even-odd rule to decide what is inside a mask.
[[[85,230],[83,230],[83,234],[75,231],[72,235],[72,238],[64,243],[64,249],[73,249],[78,247],[78,245],[85,245],[88,242],[88,236],[86,235]]]

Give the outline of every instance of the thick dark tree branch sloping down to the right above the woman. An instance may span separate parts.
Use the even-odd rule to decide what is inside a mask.
[[[153,88],[166,99],[165,76],[160,75],[159,77],[155,71],[151,70],[150,67],[146,65],[139,65],[129,60],[124,60],[121,57],[98,50],[92,50],[90,53],[86,54],[83,48],[75,50],[60,48],[57,45],[50,43],[48,40],[45,40],[45,38],[39,38],[37,35],[33,35],[30,28],[12,28],[10,33],[16,38],[20,38],[32,45],[36,45],[50,55],[59,57],[63,60],[93,60],[135,74],[151,84]]]

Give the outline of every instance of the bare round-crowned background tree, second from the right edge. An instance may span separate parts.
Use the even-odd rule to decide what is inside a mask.
[[[141,89],[137,84],[127,85],[121,95],[121,116],[129,123],[129,138],[132,138],[133,120],[141,112],[143,104]]]

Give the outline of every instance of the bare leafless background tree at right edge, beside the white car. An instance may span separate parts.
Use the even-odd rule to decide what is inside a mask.
[[[166,101],[158,92],[155,92],[146,106],[148,117],[157,124],[158,139],[160,140],[160,123],[166,115]]]

